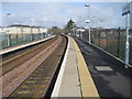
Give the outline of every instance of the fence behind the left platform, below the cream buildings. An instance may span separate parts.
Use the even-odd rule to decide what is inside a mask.
[[[38,41],[45,38],[50,35],[46,33],[37,33],[37,34],[6,34],[0,33],[0,50],[25,44],[33,41]]]

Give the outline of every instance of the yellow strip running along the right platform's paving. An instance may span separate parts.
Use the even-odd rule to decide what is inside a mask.
[[[77,64],[78,64],[78,72],[79,72],[82,97],[96,97],[100,99],[97,88],[95,86],[95,82],[86,65],[86,62],[81,55],[81,52],[78,45],[76,44],[76,42],[74,41],[74,38],[72,40],[75,43],[75,51],[76,51],[76,56],[77,56]]]

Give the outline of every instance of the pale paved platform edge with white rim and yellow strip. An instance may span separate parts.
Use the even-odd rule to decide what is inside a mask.
[[[81,52],[70,36],[52,97],[98,97]]]

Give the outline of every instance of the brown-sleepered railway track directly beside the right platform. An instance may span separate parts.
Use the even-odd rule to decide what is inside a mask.
[[[10,97],[46,97],[66,48],[66,38]]]

